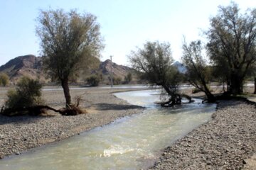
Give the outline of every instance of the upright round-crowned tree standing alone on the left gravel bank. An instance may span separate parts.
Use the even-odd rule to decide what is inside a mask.
[[[90,13],[62,9],[41,11],[37,21],[43,66],[53,80],[60,81],[66,106],[70,106],[69,80],[100,57],[100,25]]]

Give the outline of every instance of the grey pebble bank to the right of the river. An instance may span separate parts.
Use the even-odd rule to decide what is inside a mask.
[[[212,120],[167,147],[152,169],[242,169],[255,152],[255,106],[221,101]]]

